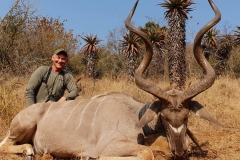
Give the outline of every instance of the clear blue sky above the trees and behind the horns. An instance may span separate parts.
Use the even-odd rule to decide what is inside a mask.
[[[109,31],[124,26],[124,20],[132,9],[135,0],[35,0],[35,7],[39,9],[36,15],[67,20],[65,28],[73,29],[74,34],[93,34],[106,42]],[[194,10],[190,12],[187,21],[187,40],[192,41],[196,32],[214,14],[207,0],[193,0]],[[157,4],[164,0],[140,0],[133,21],[135,26],[144,26],[151,17],[161,26],[166,25],[164,8]],[[230,32],[240,26],[240,0],[214,0],[222,13],[222,20],[217,25],[222,33]],[[13,0],[0,1],[0,17],[4,17],[11,8]],[[226,30],[227,29],[227,30]]]

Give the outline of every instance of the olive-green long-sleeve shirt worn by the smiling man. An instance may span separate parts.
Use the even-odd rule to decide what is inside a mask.
[[[26,88],[27,106],[46,102],[49,95],[61,98],[65,89],[68,91],[68,94],[64,95],[67,99],[75,99],[78,96],[74,78],[65,70],[60,73],[51,71],[47,84],[43,83],[43,77],[47,77],[48,70],[49,66],[41,66],[31,75]]]

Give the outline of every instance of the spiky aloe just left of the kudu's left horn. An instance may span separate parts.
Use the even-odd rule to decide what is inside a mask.
[[[141,50],[141,38],[138,37],[135,33],[129,32],[123,36],[122,47],[124,54],[126,55],[127,62],[127,75],[128,80],[132,81],[134,77],[134,72],[137,67],[137,58]]]

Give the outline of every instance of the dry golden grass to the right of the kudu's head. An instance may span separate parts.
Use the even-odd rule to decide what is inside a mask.
[[[240,80],[221,78],[196,97],[223,125],[218,127],[190,116],[189,128],[208,150],[202,159],[240,159]],[[198,158],[201,159],[201,158]]]

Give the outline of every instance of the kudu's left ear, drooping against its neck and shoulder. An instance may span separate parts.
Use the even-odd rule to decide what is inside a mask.
[[[154,118],[156,118],[158,115],[158,112],[160,111],[160,102],[155,101],[153,102],[150,107],[146,110],[146,112],[143,114],[140,121],[137,122],[136,127],[142,128],[149,122],[151,122]]]

